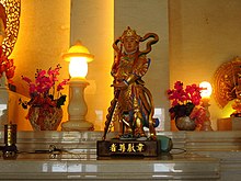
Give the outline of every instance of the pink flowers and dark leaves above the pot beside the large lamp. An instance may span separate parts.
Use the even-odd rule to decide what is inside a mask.
[[[49,108],[60,108],[64,105],[66,95],[61,94],[60,91],[69,79],[64,79],[57,84],[60,68],[60,65],[57,65],[54,69],[51,67],[48,70],[37,69],[34,82],[30,78],[22,76],[22,80],[28,84],[31,97],[30,101],[22,101],[20,99],[20,104],[23,109],[39,106],[48,110]]]

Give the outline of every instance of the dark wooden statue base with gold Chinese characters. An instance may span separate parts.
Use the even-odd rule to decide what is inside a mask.
[[[97,156],[144,156],[157,157],[159,144],[157,140],[97,140]]]

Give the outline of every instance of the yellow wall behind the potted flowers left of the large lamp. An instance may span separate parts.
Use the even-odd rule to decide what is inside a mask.
[[[28,95],[28,88],[21,76],[34,79],[37,68],[48,69],[60,64],[59,79],[68,78],[68,63],[61,59],[61,54],[68,50],[69,42],[70,0],[21,1],[20,32],[11,55],[16,66],[13,81],[18,92]],[[68,89],[65,91],[68,93]],[[16,118],[18,122],[27,122],[25,115]],[[67,120],[67,113],[64,120]],[[19,127],[31,129],[30,126]]]

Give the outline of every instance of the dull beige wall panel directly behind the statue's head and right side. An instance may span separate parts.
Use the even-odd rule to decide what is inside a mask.
[[[164,109],[165,129],[169,129],[169,101],[165,91],[169,88],[169,22],[168,0],[115,0],[115,38],[123,34],[127,26],[144,36],[156,33],[160,41],[148,54],[151,65],[144,77],[151,91],[154,106]],[[163,121],[163,120],[162,120]]]

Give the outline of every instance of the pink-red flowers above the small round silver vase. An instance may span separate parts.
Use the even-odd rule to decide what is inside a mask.
[[[190,116],[196,124],[202,124],[206,118],[206,111],[200,105],[202,90],[203,88],[195,83],[184,89],[183,82],[176,81],[174,89],[168,90],[168,98],[172,101],[172,106],[169,109],[171,118]]]

